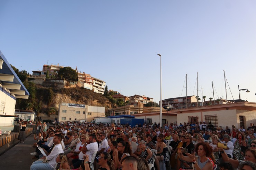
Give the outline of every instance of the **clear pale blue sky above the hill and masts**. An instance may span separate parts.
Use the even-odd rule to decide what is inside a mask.
[[[19,70],[70,66],[108,89],[160,100],[256,102],[255,0],[1,0],[0,50]]]

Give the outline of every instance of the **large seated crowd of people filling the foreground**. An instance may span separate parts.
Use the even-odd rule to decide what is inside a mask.
[[[23,129],[24,124],[21,123]],[[91,162],[94,170],[149,170],[152,164],[156,170],[162,170],[169,162],[172,169],[177,170],[213,170],[217,166],[228,170],[247,170],[246,167],[256,170],[253,123],[246,129],[232,126],[231,130],[226,127],[220,131],[210,122],[209,125],[184,122],[179,126],[175,122],[163,127],[160,123],[144,123],[130,127],[66,121],[43,129],[44,124],[36,123],[40,128],[36,128],[34,136],[35,152],[30,154],[34,156],[31,159],[37,160],[31,170],[89,170]],[[171,154],[168,146],[172,147]],[[153,150],[156,150],[155,159]]]

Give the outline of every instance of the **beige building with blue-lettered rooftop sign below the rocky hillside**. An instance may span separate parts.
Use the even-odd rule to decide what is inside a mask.
[[[106,117],[105,107],[88,106],[85,104],[61,103],[59,121],[92,121],[95,117]]]

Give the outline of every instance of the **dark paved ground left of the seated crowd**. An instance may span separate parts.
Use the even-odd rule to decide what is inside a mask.
[[[31,152],[35,152],[35,148],[32,147],[34,140],[33,134],[28,136],[25,143],[18,143],[10,150],[0,156],[0,169],[2,170],[29,170],[31,164],[36,159],[31,159],[33,156]]]

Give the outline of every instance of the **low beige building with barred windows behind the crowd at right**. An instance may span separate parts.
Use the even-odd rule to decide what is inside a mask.
[[[172,110],[177,113],[177,122],[203,122],[208,125],[209,122],[215,128],[219,126],[229,128],[232,125],[236,127],[243,126],[245,129],[250,123],[256,123],[256,103],[238,102],[229,104],[211,105],[198,108]]]

